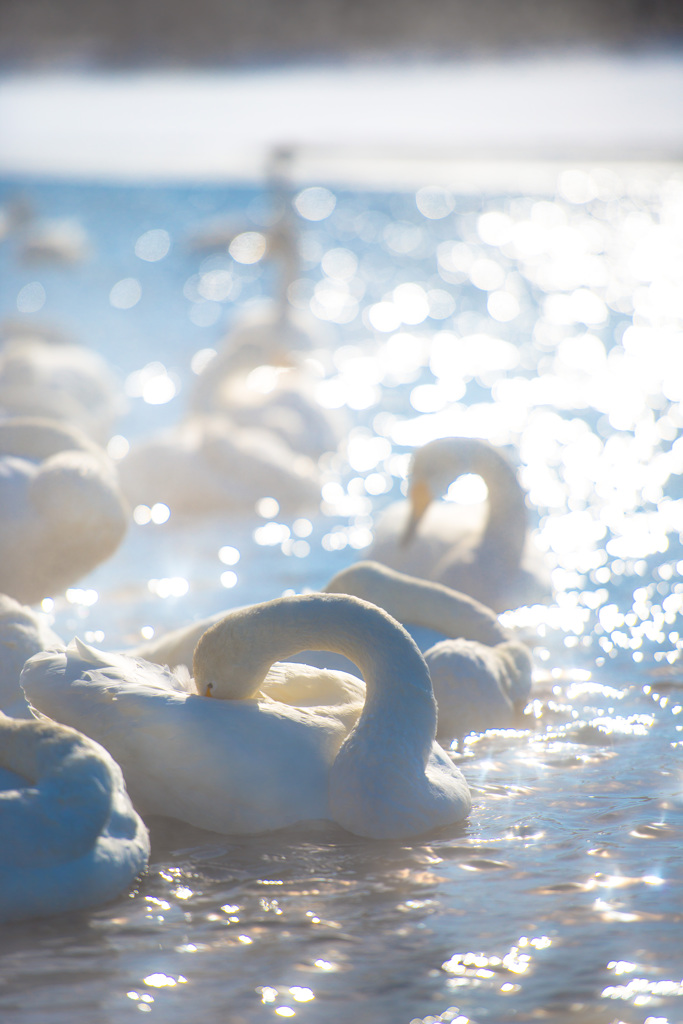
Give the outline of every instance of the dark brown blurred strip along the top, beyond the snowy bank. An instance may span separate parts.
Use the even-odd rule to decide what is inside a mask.
[[[3,0],[13,67],[223,67],[254,61],[471,57],[539,47],[680,41],[675,0]]]

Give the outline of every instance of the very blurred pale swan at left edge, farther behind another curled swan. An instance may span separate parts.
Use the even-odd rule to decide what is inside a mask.
[[[9,323],[2,335],[0,414],[63,421],[106,444],[125,406],[106,360],[50,331],[27,334],[25,326]]]

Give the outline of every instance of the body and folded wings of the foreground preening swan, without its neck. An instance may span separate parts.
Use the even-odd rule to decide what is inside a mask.
[[[76,639],[22,674],[32,707],[100,742],[142,814],[250,834],[326,818],[347,728],[275,699],[209,699],[158,665]]]

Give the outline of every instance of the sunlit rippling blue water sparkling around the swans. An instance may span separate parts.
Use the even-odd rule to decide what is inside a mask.
[[[108,357],[128,394],[117,454],[179,417],[197,353],[272,291],[264,261],[197,245],[216,218],[264,230],[268,197],[2,183],[6,206],[19,194],[34,224],[76,218],[81,248],[31,262],[9,233],[2,313]],[[329,334],[319,395],[350,419],[319,514],[138,509],[117,555],[46,607],[62,635],[116,647],[319,586],[362,554],[413,446],[486,436],[518,453],[558,590],[507,615],[538,665],[524,728],[454,751],[473,811],[424,843],[151,822],[150,870],[117,903],[0,932],[0,1018],[680,1021],[680,168],[560,168],[543,195],[324,182],[295,206],[290,295]]]

